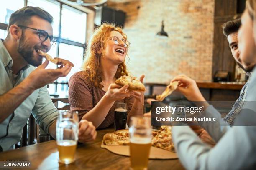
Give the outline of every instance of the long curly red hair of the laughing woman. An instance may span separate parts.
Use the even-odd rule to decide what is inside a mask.
[[[94,31],[84,54],[85,61],[82,69],[85,70],[85,76],[86,78],[90,78],[93,85],[100,88],[103,88],[103,85],[100,84],[102,82],[100,58],[102,57],[105,49],[105,42],[111,31],[118,31],[123,35],[124,39],[127,39],[127,35],[123,33],[123,30],[120,27],[116,27],[113,24],[103,23]],[[118,65],[115,78],[118,79],[123,75],[128,75],[125,60]]]

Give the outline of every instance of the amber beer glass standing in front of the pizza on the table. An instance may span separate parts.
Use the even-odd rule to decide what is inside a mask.
[[[130,169],[147,170],[151,148],[151,119],[134,116],[130,121]]]

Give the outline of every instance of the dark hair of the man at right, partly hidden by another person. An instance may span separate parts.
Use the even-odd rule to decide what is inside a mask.
[[[227,23],[222,25],[223,34],[228,38],[228,35],[234,32],[238,32],[240,26],[241,26],[240,19],[228,21]]]

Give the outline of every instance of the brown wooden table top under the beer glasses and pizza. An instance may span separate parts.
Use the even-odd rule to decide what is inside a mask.
[[[16,150],[0,153],[0,161],[27,161],[29,167],[17,169],[42,169],[42,170],[128,170],[130,166],[129,157],[110,153],[108,150],[100,148],[103,135],[114,131],[113,128],[98,130],[97,138],[94,142],[77,146],[76,161],[69,165],[58,163],[59,153],[55,140],[49,142],[29,145]],[[8,168],[4,168],[7,170]],[[14,168],[10,168],[14,169]],[[149,170],[183,170],[183,166],[178,159],[174,160],[149,160]]]

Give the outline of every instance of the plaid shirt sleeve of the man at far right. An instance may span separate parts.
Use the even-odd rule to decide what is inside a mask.
[[[234,120],[241,112],[244,101],[246,100],[247,86],[248,86],[248,82],[246,82],[246,84],[243,86],[242,90],[240,91],[239,98],[236,100],[231,111],[228,113],[228,115],[226,115],[226,117],[223,118],[223,120],[225,122],[228,122],[228,124],[230,124],[230,126],[233,125]]]

